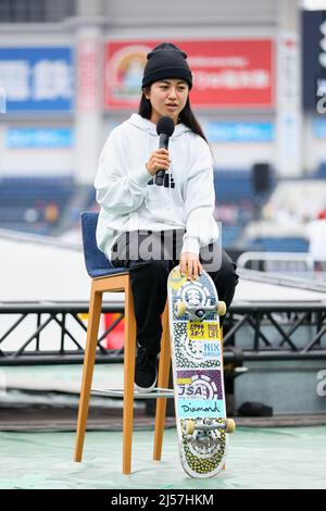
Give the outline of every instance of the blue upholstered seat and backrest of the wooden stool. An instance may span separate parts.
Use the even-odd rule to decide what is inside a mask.
[[[85,211],[82,213],[82,233],[84,246],[84,259],[86,270],[91,278],[127,273],[126,267],[113,267],[109,259],[97,246],[97,225],[99,213]]]

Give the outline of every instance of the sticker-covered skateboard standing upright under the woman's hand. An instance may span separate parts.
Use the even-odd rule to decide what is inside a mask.
[[[179,454],[191,477],[212,477],[224,468],[227,434],[220,315],[226,313],[206,272],[197,279],[179,266],[167,281],[172,367]]]

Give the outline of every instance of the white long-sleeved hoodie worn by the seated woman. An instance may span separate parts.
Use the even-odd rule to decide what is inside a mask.
[[[156,125],[134,113],[115,127],[102,150],[95,179],[101,205],[97,242],[106,258],[125,232],[186,229],[181,252],[199,254],[215,241],[215,194],[208,144],[184,124],[170,138],[172,164],[164,186],[153,185],[146,169],[159,147]]]

